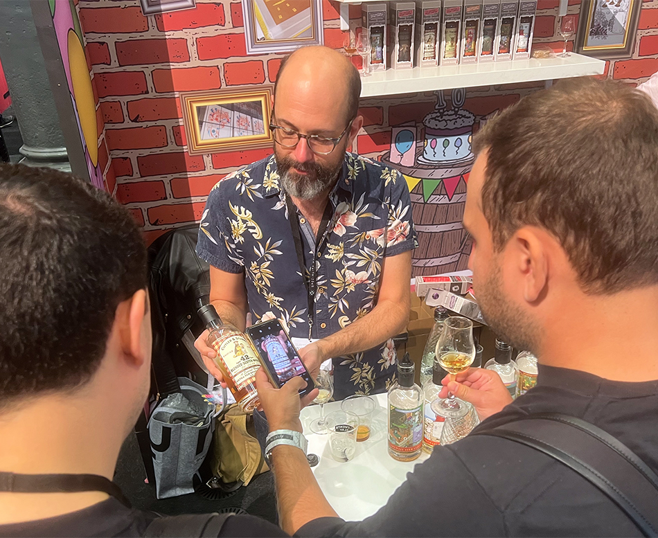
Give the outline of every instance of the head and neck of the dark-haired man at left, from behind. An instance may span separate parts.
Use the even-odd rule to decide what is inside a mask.
[[[89,183],[3,164],[0,260],[1,470],[112,478],[150,383],[139,229]],[[4,495],[10,508],[0,521],[9,522],[82,508],[101,494],[38,510],[29,495]]]

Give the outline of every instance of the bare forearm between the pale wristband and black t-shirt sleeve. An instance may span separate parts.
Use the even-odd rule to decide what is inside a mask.
[[[281,528],[292,535],[319,517],[338,517],[308,466],[303,451],[279,445],[272,450],[274,481]]]

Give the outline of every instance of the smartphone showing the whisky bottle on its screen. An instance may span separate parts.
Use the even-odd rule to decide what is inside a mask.
[[[293,377],[301,377],[306,386],[299,391],[300,396],[307,395],[315,388],[313,378],[278,319],[251,325],[247,328],[247,334],[254,343],[260,364],[274,386],[281,388]]]

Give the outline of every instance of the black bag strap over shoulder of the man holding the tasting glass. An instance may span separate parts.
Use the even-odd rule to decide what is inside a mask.
[[[562,413],[536,413],[473,435],[532,447],[583,476],[607,495],[647,537],[658,537],[658,476],[602,429]]]

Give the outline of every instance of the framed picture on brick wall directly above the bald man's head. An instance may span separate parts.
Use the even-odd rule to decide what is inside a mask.
[[[242,0],[247,54],[294,51],[321,45],[321,0]]]

